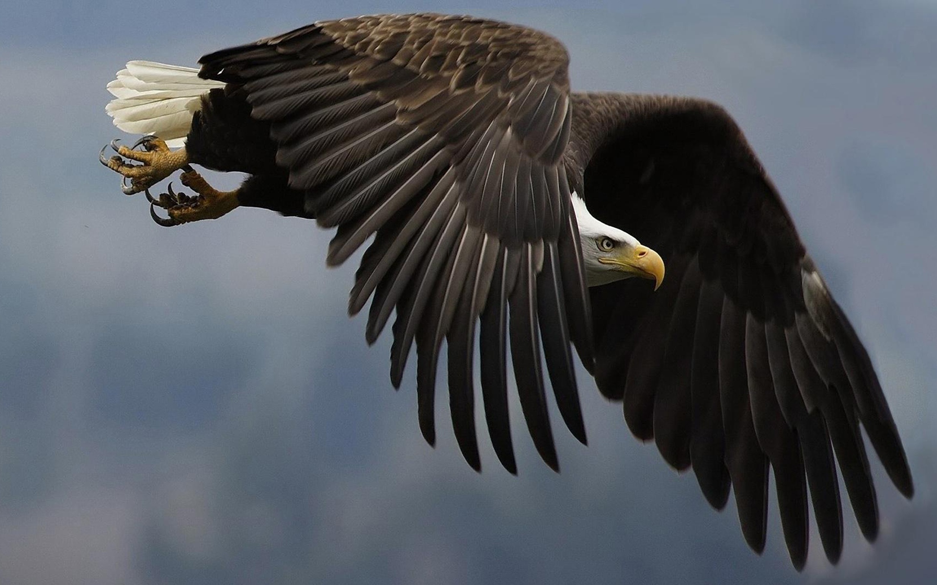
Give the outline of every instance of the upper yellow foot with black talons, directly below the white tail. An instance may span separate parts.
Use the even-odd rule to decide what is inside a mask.
[[[140,193],[180,168],[191,169],[188,167],[188,154],[185,148],[172,151],[166,142],[155,136],[144,136],[131,147],[118,146],[117,139],[113,139],[110,146],[118,156],[107,158],[104,151],[107,150],[108,145],[105,145],[98,158],[102,165],[121,174],[121,191],[125,195]],[[136,150],[138,147],[142,147],[143,150]],[[134,165],[129,161],[142,164]],[[127,184],[127,181],[130,183]]]

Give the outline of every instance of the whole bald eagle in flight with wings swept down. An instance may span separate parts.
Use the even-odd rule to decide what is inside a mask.
[[[869,355],[719,106],[573,93],[553,37],[433,14],[316,22],[200,64],[128,63],[107,110],[146,136],[112,142],[117,155],[102,150],[101,162],[126,194],[146,193],[160,226],[241,206],[315,219],[337,228],[330,265],[370,240],[349,312],[371,300],[369,343],[395,314],[394,387],[416,343],[430,444],[445,340],[455,438],[480,469],[478,329],[485,423],[511,473],[507,356],[533,443],[558,469],[544,377],[585,444],[574,348],[631,431],[677,470],[692,467],[710,505],[735,492],[756,551],[773,469],[798,570],[809,497],[826,557],[840,558],[835,461],[862,534],[878,533],[860,424],[911,497]],[[218,191],[194,164],[250,176]],[[194,196],[150,194],[176,170]]]

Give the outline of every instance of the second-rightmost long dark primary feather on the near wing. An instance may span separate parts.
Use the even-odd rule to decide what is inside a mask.
[[[537,309],[540,315],[543,357],[550,384],[557,399],[559,415],[566,427],[583,445],[587,445],[586,425],[579,406],[579,391],[573,371],[566,304],[563,301],[562,276],[556,242],[543,246],[543,271],[537,277]]]

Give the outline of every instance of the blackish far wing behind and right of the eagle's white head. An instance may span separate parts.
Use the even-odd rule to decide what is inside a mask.
[[[878,531],[860,422],[898,489],[913,491],[869,356],[728,114],[698,100],[644,101],[593,157],[585,192],[596,217],[662,255],[667,279],[654,294],[629,281],[591,290],[599,388],[623,399],[632,432],[654,438],[666,461],[692,465],[710,504],[725,505],[732,485],[756,550],[770,465],[798,568],[809,483],[835,562],[834,453],[862,533]]]

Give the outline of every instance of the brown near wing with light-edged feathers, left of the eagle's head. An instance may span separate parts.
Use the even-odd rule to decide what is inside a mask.
[[[201,76],[243,86],[271,124],[277,163],[320,225],[338,227],[328,262],[370,236],[350,313],[372,295],[373,342],[396,310],[391,377],[414,339],[420,427],[433,443],[439,348],[448,344],[455,436],[480,467],[472,397],[481,318],[485,417],[515,471],[506,335],[528,429],[557,456],[540,343],[559,411],[586,435],[570,340],[591,366],[587,289],[569,183],[568,56],[552,37],[501,22],[388,15],[317,22],[201,58]],[[508,318],[508,306],[511,317]]]

